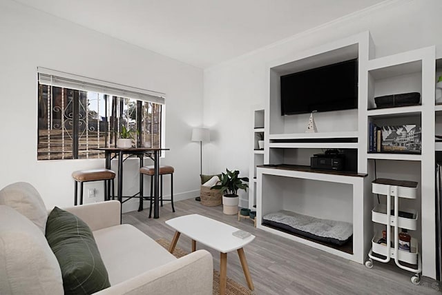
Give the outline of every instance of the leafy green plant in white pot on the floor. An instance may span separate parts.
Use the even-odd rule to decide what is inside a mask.
[[[238,204],[240,203],[240,197],[238,196],[238,190],[245,190],[247,192],[248,177],[238,177],[240,172],[238,170],[222,173],[220,177],[221,184],[213,185],[211,190],[222,190],[224,196],[222,196],[222,212],[224,214],[233,215],[238,214]]]

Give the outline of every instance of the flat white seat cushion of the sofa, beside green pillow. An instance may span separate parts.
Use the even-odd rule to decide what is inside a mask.
[[[93,235],[111,285],[177,259],[132,225],[107,227]]]

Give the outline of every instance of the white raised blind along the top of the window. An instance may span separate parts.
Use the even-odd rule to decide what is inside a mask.
[[[37,72],[39,83],[44,85],[99,92],[112,96],[136,99],[138,101],[159,103],[162,105],[165,103],[165,94],[161,92],[134,88],[127,85],[91,79],[41,67],[37,68]]]

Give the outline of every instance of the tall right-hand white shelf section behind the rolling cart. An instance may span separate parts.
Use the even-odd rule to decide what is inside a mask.
[[[421,154],[367,154],[378,161],[378,177],[401,179],[419,183],[416,200],[405,203],[425,217],[418,223],[412,238],[422,252],[423,275],[436,277],[436,241],[434,212],[434,60],[435,48],[421,48],[367,63],[369,78],[368,106],[374,108],[374,97],[387,94],[419,92],[421,105],[369,110],[367,119],[376,125],[421,126]],[[398,166],[398,161],[405,161]],[[397,167],[395,169],[395,167]],[[395,172],[396,171],[396,172]],[[429,217],[431,216],[431,217]]]

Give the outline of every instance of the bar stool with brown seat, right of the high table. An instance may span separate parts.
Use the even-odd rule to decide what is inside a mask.
[[[171,201],[172,204],[172,212],[175,212],[175,207],[173,207],[173,169],[172,166],[160,165],[160,201],[161,207],[163,207],[163,201]],[[171,199],[164,200],[163,199],[163,175],[171,174]],[[143,175],[151,176],[151,196],[143,196]],[[149,208],[149,218],[152,216],[152,204],[153,204],[153,176],[155,175],[155,170],[152,166],[144,166],[140,168],[140,207],[138,207],[138,211],[143,210],[143,201],[149,200],[151,201],[151,207]]]

